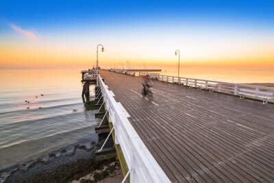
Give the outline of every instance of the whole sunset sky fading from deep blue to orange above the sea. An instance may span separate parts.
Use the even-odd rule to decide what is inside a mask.
[[[274,71],[274,1],[0,1],[0,69]]]

